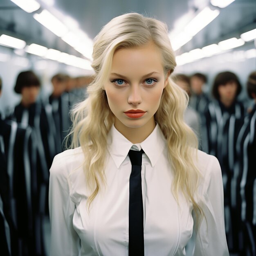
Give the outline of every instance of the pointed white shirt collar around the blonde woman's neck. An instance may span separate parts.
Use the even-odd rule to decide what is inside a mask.
[[[109,133],[108,133],[108,151],[114,160],[117,168],[119,168],[126,159],[129,150],[135,148],[124,135],[122,135],[114,126],[112,125]],[[140,143],[141,148],[144,150],[145,154],[150,160],[151,166],[155,166],[159,156],[162,154],[164,147],[166,145],[166,139],[162,134],[162,131],[157,124],[151,132],[151,134]]]

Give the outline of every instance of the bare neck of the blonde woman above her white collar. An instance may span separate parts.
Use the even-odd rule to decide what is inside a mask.
[[[144,141],[155,128],[155,119],[150,119],[147,124],[141,127],[128,127],[122,124],[119,120],[115,120],[115,128],[128,139],[132,144],[141,143]]]

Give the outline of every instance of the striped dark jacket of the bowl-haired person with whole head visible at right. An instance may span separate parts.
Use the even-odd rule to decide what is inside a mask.
[[[243,125],[244,107],[235,101],[226,108],[220,101],[209,103],[202,117],[202,148],[215,155],[221,166],[225,203],[225,229],[229,248],[234,246],[231,222],[231,177],[236,159],[236,140]]]

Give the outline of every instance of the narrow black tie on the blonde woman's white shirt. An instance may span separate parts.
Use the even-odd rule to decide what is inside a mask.
[[[129,197],[129,256],[144,256],[144,221],[141,189],[141,162],[144,151],[130,150],[132,163]]]

